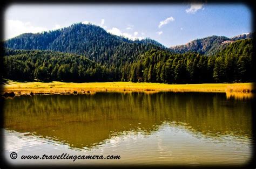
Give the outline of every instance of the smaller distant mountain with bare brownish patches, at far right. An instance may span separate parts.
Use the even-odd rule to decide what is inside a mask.
[[[206,55],[214,55],[223,50],[228,44],[233,43],[236,40],[248,39],[252,37],[253,33],[240,34],[239,36],[235,36],[233,38],[211,36],[190,41],[185,45],[173,46],[170,47],[170,49],[177,53],[198,52]]]

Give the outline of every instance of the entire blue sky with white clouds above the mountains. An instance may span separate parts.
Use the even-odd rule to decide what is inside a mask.
[[[91,23],[129,39],[151,38],[166,47],[208,36],[252,32],[245,4],[10,4],[4,12],[4,40]]]

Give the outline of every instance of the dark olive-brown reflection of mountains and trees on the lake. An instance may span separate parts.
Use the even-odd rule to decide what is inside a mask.
[[[216,93],[96,93],[21,96],[5,100],[8,130],[51,138],[82,149],[127,131],[150,135],[163,122],[194,136],[252,136],[250,100]]]

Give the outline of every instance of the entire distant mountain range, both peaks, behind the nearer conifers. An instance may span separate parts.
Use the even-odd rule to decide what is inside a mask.
[[[18,37],[6,40],[5,47],[15,50],[52,50],[65,53],[86,55],[97,62],[109,63],[112,56],[126,58],[126,55],[134,58],[138,52],[145,52],[152,48],[161,48],[175,53],[197,52],[213,55],[223,50],[228,44],[239,39],[252,38],[253,33],[240,34],[233,38],[224,36],[211,36],[193,40],[185,45],[166,48],[155,40],[146,38],[143,40],[129,40],[124,37],[107,33],[102,27],[92,24],[73,24],[60,30],[43,33],[24,33]],[[122,48],[122,53],[117,53]],[[124,57],[122,55],[125,55]],[[126,58],[127,59],[127,58]]]

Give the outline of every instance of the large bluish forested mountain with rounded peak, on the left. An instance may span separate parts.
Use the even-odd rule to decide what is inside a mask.
[[[14,50],[50,50],[85,55],[102,64],[134,59],[139,53],[164,46],[152,39],[129,40],[107,33],[91,24],[73,24],[60,30],[43,33],[24,33],[6,40],[5,47]]]

